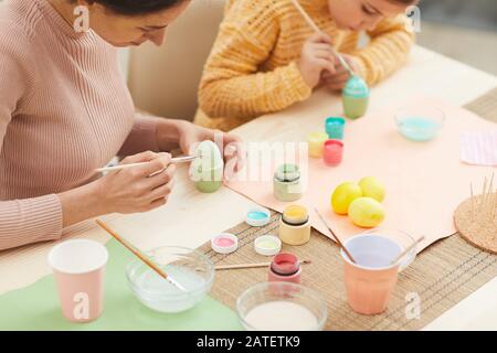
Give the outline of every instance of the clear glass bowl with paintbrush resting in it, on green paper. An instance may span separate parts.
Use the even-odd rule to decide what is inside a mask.
[[[193,308],[212,288],[214,266],[202,253],[163,246],[145,253],[160,269],[184,287],[177,288],[136,258],[128,264],[126,277],[135,296],[146,307],[160,312],[181,312]]]

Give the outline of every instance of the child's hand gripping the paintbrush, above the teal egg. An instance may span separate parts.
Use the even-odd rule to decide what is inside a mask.
[[[335,75],[335,56],[329,36],[319,33],[309,38],[304,43],[297,65],[305,83],[311,88],[319,84],[321,73]]]

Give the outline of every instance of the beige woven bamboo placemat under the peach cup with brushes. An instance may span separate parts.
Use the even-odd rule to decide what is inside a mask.
[[[466,108],[497,121],[497,88],[476,99]],[[279,214],[264,227],[242,223],[229,233],[239,236],[239,250],[230,255],[214,253],[210,244],[200,248],[215,265],[268,261],[253,248],[260,235],[277,235]],[[360,315],[347,303],[343,266],[338,247],[326,236],[313,229],[311,239],[304,246],[283,246],[283,250],[310,259],[304,265],[303,285],[321,292],[328,301],[326,330],[419,330],[497,276],[497,256],[469,245],[458,234],[431,245],[399,276],[399,282],[385,312]],[[237,269],[216,271],[212,296],[235,309],[236,298],[248,287],[265,281],[267,269]],[[409,299],[419,298],[420,315],[412,315]],[[406,314],[408,311],[408,314]]]

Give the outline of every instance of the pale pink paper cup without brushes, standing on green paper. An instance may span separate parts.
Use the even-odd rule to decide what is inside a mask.
[[[74,239],[52,248],[52,267],[63,315],[72,322],[89,322],[104,310],[104,272],[108,253],[102,244]]]

